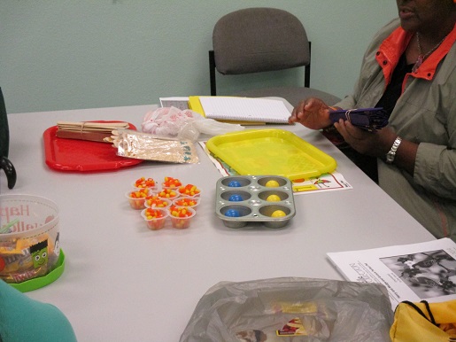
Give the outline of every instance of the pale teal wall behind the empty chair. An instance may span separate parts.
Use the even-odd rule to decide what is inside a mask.
[[[311,86],[352,91],[393,0],[0,0],[0,86],[9,113],[146,105],[208,95],[207,51],[222,15],[244,7],[293,12],[313,42]],[[302,81],[289,71],[242,85],[220,75],[220,95]]]

